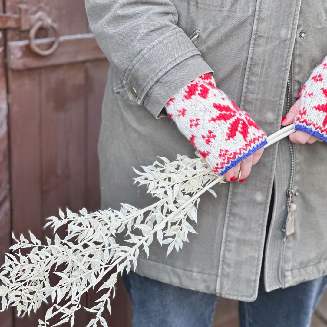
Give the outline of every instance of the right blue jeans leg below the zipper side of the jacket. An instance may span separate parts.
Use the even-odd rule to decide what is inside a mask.
[[[263,275],[258,298],[239,303],[241,327],[310,327],[312,314],[327,286],[327,276],[266,292]]]

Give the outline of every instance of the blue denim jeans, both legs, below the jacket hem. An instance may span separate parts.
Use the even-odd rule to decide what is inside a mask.
[[[273,198],[271,208],[272,203]],[[269,224],[270,218],[271,210]],[[239,302],[240,326],[309,327],[315,307],[327,286],[327,276],[266,292],[263,267],[264,259],[257,299]],[[133,271],[128,275],[124,271],[123,282],[132,300],[133,327],[212,326],[219,299],[215,294],[161,283]]]

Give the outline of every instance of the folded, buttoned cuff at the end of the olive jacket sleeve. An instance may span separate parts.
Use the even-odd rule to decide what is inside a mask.
[[[190,65],[184,62],[186,60],[191,60],[195,66],[190,69]],[[184,65],[183,70],[178,69],[181,63]],[[185,69],[187,70],[185,71]],[[189,69],[190,71],[188,71]],[[201,58],[200,52],[185,32],[181,28],[175,28],[149,44],[131,62],[125,73],[123,83],[129,99],[138,104],[142,104],[146,100],[146,108],[158,116],[166,103],[164,100],[167,99],[168,101],[185,84],[206,72],[213,72],[213,70]],[[168,74],[169,76],[167,76]],[[189,78],[185,78],[185,74]],[[173,89],[172,86],[165,89],[166,83],[161,85],[164,81],[174,83],[174,91],[177,88],[176,92],[170,91]],[[157,87],[158,83],[161,86],[160,91]],[[157,93],[163,94],[158,96],[154,89],[157,89]],[[151,96],[148,96],[148,93],[151,93]],[[156,97],[152,98],[153,96]],[[160,104],[156,99],[161,100]],[[157,108],[158,106],[161,107],[160,110]]]

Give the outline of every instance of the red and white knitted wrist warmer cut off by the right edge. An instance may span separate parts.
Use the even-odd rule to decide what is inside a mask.
[[[299,98],[301,106],[295,117],[295,129],[327,142],[327,57],[301,87]]]

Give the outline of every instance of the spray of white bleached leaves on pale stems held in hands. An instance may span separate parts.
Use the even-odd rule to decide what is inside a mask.
[[[285,137],[294,130],[287,127],[271,135],[268,145]],[[123,269],[135,270],[139,251],[149,255],[149,245],[154,237],[161,245],[167,245],[167,255],[177,251],[188,242],[188,233],[196,233],[189,221],[197,223],[197,209],[200,195],[211,187],[224,182],[224,178],[214,174],[204,159],[196,152],[197,158],[178,155],[176,161],[159,157],[153,165],[142,166],[143,172],[135,179],[139,185],[147,186],[147,193],[159,200],[144,209],[122,204],[120,211],[112,209],[88,213],[85,208],[79,214],[67,209],[66,215],[60,210],[59,218],[50,217],[45,226],[53,227],[54,244],[46,238],[44,245],[32,232],[29,240],[23,235],[10,247],[13,253],[6,253],[6,261],[1,267],[0,286],[1,311],[9,305],[17,308],[18,316],[36,312],[42,302],[52,306],[45,318],[39,320],[39,327],[49,326],[49,319],[60,316],[59,326],[70,322],[74,325],[75,313],[81,308],[81,296],[99,283],[99,290],[105,294],[95,301],[95,306],[85,308],[94,314],[87,327],[99,324],[107,327],[102,312],[111,312],[110,297],[114,296],[117,276]],[[68,235],[60,239],[57,229],[65,226]],[[125,240],[130,246],[116,243],[117,233],[126,232]],[[20,249],[30,248],[23,255]],[[62,265],[64,264],[64,265]],[[64,268],[62,268],[64,266]],[[61,270],[60,270],[61,267]],[[108,280],[104,275],[117,268]],[[60,279],[56,285],[50,284],[50,274]],[[65,305],[59,302],[65,299]]]

